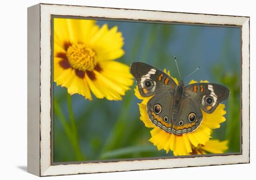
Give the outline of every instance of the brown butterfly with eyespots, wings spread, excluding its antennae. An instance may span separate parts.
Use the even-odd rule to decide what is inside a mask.
[[[212,113],[229,96],[229,89],[219,84],[176,84],[168,74],[141,62],[132,63],[131,73],[141,96],[152,96],[146,105],[149,120],[167,133],[195,131],[203,120],[202,111]]]

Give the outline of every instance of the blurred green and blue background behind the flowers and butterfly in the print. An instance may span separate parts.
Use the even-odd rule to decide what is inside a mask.
[[[118,61],[130,65],[141,61],[160,69],[167,68],[173,77],[178,73],[173,56],[185,76],[195,67],[201,70],[191,77],[209,80],[230,89],[226,121],[214,130],[214,139],[229,140],[228,152],[240,151],[240,29],[153,23],[98,21],[118,26],[124,37],[125,55]],[[191,79],[190,79],[191,80]],[[190,80],[185,80],[188,83]],[[108,101],[72,97],[65,87],[54,83],[54,162],[109,160],[172,156],[158,151],[150,143],[150,130],[140,120],[131,87],[123,100]]]

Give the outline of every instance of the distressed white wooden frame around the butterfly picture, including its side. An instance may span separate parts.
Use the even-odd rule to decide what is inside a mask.
[[[241,152],[214,156],[53,164],[51,150],[53,111],[51,18],[53,15],[241,27]],[[249,163],[249,17],[55,4],[37,4],[28,7],[27,123],[27,169],[29,173],[37,176]]]

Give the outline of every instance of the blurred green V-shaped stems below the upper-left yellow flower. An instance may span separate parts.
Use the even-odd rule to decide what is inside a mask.
[[[79,145],[77,129],[76,129],[73,110],[72,110],[71,97],[68,97],[68,96],[70,96],[70,95],[67,94],[67,105],[68,105],[69,118],[70,118],[71,124],[69,124],[67,122],[67,119],[65,118],[64,114],[62,113],[58,101],[55,99],[54,99],[54,112],[56,113],[57,117],[60,119],[61,124],[64,127],[64,131],[67,134],[67,137],[70,140],[70,142],[74,148],[76,160],[85,160],[85,157],[82,154],[80,145]]]

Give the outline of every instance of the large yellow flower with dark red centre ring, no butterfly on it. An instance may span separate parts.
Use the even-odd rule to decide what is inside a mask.
[[[129,67],[114,61],[124,51],[117,27],[97,26],[95,20],[54,18],[54,81],[92,100],[121,100],[133,84]]]

